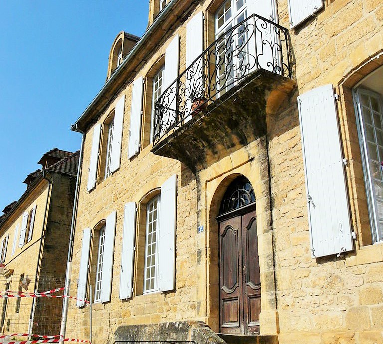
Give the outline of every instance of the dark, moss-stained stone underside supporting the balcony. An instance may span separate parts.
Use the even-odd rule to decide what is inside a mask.
[[[266,134],[266,118],[280,110],[294,80],[258,69],[200,110],[152,149],[196,173]]]

